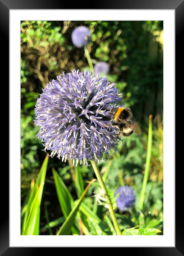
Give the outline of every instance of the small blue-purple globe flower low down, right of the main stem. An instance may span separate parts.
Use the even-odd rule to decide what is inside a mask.
[[[133,207],[136,197],[131,187],[119,187],[114,193],[114,196],[117,194],[119,195],[116,199],[116,204],[119,210],[127,211]]]

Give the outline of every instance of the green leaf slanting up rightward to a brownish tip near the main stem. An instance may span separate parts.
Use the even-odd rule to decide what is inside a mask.
[[[68,215],[66,221],[63,223],[62,227],[60,230],[57,232],[57,235],[69,235],[71,227],[74,223],[75,216],[77,214],[78,208],[80,207],[80,204],[82,202],[83,197],[86,195],[88,188],[91,186],[91,184],[96,181],[96,179],[93,179],[88,186],[86,187],[85,191],[82,193],[82,196],[79,198],[77,201],[76,205],[73,207],[72,211]]]

